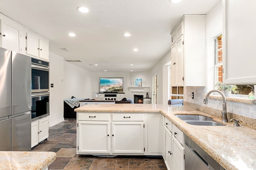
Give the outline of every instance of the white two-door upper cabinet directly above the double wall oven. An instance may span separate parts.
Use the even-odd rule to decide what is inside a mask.
[[[49,41],[26,30],[26,55],[49,61]]]

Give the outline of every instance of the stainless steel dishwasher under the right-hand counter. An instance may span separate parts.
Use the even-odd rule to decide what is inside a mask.
[[[225,170],[185,134],[184,140],[185,170]]]

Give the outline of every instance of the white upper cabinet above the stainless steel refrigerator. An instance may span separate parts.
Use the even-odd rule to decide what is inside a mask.
[[[22,53],[24,28],[3,15],[0,15],[0,25],[0,47]]]

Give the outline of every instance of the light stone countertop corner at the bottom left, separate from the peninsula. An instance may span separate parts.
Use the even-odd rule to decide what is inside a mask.
[[[45,170],[55,152],[0,151],[0,170]]]

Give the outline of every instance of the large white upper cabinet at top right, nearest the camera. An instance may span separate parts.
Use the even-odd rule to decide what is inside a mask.
[[[256,1],[223,0],[223,82],[256,84]],[[246,31],[243,31],[245,30]],[[242,34],[241,34],[242,31]]]

